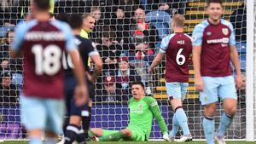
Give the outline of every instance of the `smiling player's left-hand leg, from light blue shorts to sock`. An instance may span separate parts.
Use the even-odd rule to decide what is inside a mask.
[[[207,144],[214,144],[214,115],[218,101],[218,78],[203,77],[205,89],[200,92],[201,105],[204,106],[203,129]]]

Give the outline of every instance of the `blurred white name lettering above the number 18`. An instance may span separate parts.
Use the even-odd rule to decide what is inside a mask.
[[[27,41],[63,41],[63,32],[27,32],[24,39]]]

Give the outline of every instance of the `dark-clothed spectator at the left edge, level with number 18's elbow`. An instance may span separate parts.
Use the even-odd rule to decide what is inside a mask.
[[[12,74],[9,71],[1,73],[0,103],[3,105],[14,105],[19,99],[19,90],[11,83]]]

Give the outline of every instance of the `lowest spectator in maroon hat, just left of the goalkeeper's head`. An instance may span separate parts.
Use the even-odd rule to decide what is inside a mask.
[[[122,98],[127,97],[125,99]],[[116,80],[114,76],[108,76],[103,79],[103,89],[96,90],[96,101],[127,101],[127,95],[121,95],[120,89],[116,88]]]

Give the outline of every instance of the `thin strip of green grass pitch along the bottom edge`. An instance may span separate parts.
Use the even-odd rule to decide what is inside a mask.
[[[104,141],[104,142],[87,142],[88,144],[206,144],[206,141],[192,141],[192,142],[167,142],[167,141],[146,141],[146,142],[135,142],[135,141]],[[226,141],[227,144],[256,144],[254,142],[247,141]],[[27,144],[27,141],[4,141],[1,144]]]

